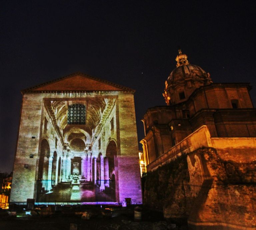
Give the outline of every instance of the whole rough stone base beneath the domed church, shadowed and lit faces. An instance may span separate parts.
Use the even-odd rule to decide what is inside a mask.
[[[148,172],[144,204],[195,228],[256,227],[256,161],[223,158],[200,148]]]

